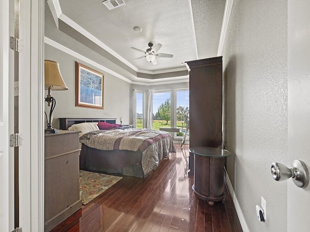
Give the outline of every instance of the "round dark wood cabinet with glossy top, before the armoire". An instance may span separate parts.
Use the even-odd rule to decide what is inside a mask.
[[[224,164],[232,153],[215,147],[191,147],[194,154],[194,185],[196,196],[209,205],[224,198]]]

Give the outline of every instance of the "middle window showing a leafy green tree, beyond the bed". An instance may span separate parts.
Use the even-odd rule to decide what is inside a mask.
[[[153,129],[171,127],[171,91],[153,92]],[[172,126],[173,127],[173,126]]]

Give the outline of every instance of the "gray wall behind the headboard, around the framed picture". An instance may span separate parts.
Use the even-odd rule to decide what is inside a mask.
[[[117,118],[116,122],[120,123],[119,117],[123,116],[123,124],[129,124],[129,96],[131,84],[48,44],[45,44],[45,59],[54,60],[59,63],[62,78],[69,88],[69,90],[65,91],[52,91],[52,96],[57,101],[54,110],[53,128],[59,128],[59,117],[108,117]],[[104,74],[103,110],[76,107],[76,61]],[[45,95],[47,95],[47,91]],[[45,109],[48,114],[50,108],[47,104]]]

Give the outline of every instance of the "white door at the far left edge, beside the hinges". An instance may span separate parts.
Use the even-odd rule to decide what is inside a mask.
[[[9,148],[9,128],[14,123],[11,117],[14,105],[9,98],[14,61],[14,52],[9,48],[9,35],[14,32],[14,24],[9,22],[11,15],[14,6],[10,7],[9,0],[0,0],[0,232],[14,229],[14,151]]]

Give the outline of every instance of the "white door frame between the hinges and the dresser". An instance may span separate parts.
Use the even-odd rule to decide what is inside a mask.
[[[44,231],[44,1],[19,3],[19,227]]]

